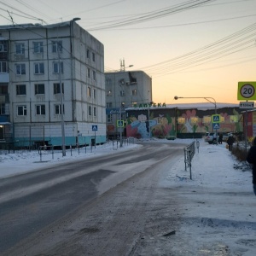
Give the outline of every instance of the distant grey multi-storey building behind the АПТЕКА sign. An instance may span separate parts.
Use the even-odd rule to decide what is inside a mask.
[[[152,79],[143,71],[125,70],[105,73],[105,79],[108,137],[125,135],[125,108],[152,102]]]

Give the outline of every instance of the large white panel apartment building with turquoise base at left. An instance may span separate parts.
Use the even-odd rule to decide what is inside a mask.
[[[105,143],[105,109],[103,44],[74,20],[0,26],[0,140],[58,146],[64,122],[66,146]]]

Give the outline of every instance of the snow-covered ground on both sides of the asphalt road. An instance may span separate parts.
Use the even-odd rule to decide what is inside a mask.
[[[189,144],[193,140],[154,142]],[[170,171],[167,176],[160,177],[160,185],[177,188],[177,196],[183,201],[183,224],[176,232],[177,236],[172,236],[172,246],[176,252],[179,247],[187,247],[188,253],[175,255],[253,256],[256,252],[256,197],[253,194],[251,168],[237,162],[225,148],[225,143],[210,145],[202,139],[199,142],[200,148],[196,149],[192,160],[192,179],[189,168],[185,171],[183,156],[172,167],[168,166]],[[54,155],[44,151],[42,158],[38,152],[5,154],[0,150],[0,178],[31,172],[59,162],[116,154],[119,150],[134,147],[140,146],[134,143],[117,148],[116,144],[113,146],[108,143],[86,148],[86,153],[85,148],[73,149],[72,153],[67,150],[65,157],[62,157],[61,151]],[[182,241],[189,242],[181,244]],[[201,247],[201,251],[191,254],[195,252],[195,247]]]

